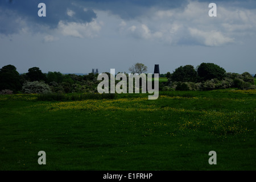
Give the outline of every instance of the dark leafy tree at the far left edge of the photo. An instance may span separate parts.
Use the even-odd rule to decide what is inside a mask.
[[[6,65],[0,69],[0,90],[9,89],[18,92],[22,88],[22,80],[14,65]]]

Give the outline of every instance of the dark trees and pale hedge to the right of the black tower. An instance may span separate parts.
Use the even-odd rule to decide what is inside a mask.
[[[213,63],[201,63],[196,68],[185,65],[167,72],[168,81],[164,90],[213,90],[213,89],[256,89],[254,77],[248,72],[241,75],[226,72],[224,68]]]

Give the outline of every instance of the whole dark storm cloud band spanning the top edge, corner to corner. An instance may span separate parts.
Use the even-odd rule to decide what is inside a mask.
[[[38,16],[38,4],[46,3],[46,17]],[[104,10],[118,15],[123,20],[137,19],[139,16],[151,16],[150,9],[184,10],[190,0],[1,0],[0,1],[0,34],[13,34],[22,28],[38,32],[42,27],[56,28],[60,21],[85,23],[97,18],[93,10]],[[197,2],[209,3],[208,0]],[[218,5],[255,9],[256,1],[222,1],[215,0]],[[208,8],[208,7],[207,7]],[[42,28],[41,31],[46,30]]]

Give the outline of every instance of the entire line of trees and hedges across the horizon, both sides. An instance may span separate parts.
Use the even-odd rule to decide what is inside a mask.
[[[142,63],[129,69],[134,73],[143,73],[147,67]],[[110,73],[107,73],[110,75]],[[128,77],[128,74],[126,74]],[[60,72],[43,73],[40,68],[32,67],[27,73],[19,74],[14,65],[0,69],[0,94],[12,93],[83,93],[97,92],[98,74],[64,75]],[[109,76],[110,77],[110,76]],[[213,63],[201,63],[197,68],[185,65],[167,72],[160,77],[168,81],[160,82],[160,90],[212,90],[225,88],[256,89],[254,78],[248,72],[226,73],[224,68]]]

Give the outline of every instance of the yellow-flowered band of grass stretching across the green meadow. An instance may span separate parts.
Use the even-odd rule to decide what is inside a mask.
[[[157,102],[148,101],[147,98],[118,98],[114,100],[84,100],[84,101],[67,101],[67,102],[53,102],[47,104],[39,104],[38,107],[44,110],[56,112],[61,110],[88,110],[88,111],[122,111],[136,112],[136,113],[163,113],[179,116],[179,127],[177,130],[184,131],[207,131],[214,135],[227,135],[227,134],[242,134],[247,131],[247,127],[240,125],[240,119],[246,115],[245,111],[230,111],[222,109],[221,111],[210,109],[201,110],[196,107],[177,107],[172,106],[173,100],[188,101],[194,100],[195,102],[202,100],[204,102],[213,101],[213,98],[199,98],[199,97],[179,97],[179,96],[160,96],[158,102],[162,103],[164,100],[170,105],[162,106]],[[239,98],[224,98],[220,99],[222,102],[245,102]],[[179,101],[177,101],[179,103]],[[187,102],[186,102],[187,103]],[[33,106],[35,107],[35,106]],[[172,118],[169,118],[171,122]],[[165,127],[170,121],[154,122],[154,127]],[[168,124],[169,125],[169,124]],[[147,129],[152,132],[152,129]],[[166,132],[168,133],[168,132]],[[175,134],[174,134],[175,135]]]

